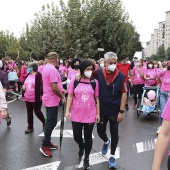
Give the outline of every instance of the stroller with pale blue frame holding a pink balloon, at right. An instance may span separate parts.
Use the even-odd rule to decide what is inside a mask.
[[[154,100],[154,103],[152,106],[146,105],[146,94],[148,91],[153,90],[156,93],[156,97]],[[150,120],[151,113],[157,113],[159,115],[160,113],[160,107],[159,107],[159,91],[160,88],[157,86],[146,86],[143,87],[143,94],[141,100],[138,101],[137,103],[137,116],[140,116],[140,113],[143,112],[148,116],[148,119]]]

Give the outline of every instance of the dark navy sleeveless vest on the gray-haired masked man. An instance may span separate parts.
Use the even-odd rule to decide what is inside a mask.
[[[120,111],[121,88],[125,76],[119,71],[117,77],[107,86],[102,69],[98,70],[100,112],[108,116]]]

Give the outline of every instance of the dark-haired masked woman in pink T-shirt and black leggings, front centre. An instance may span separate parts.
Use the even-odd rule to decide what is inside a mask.
[[[95,122],[100,121],[99,112],[99,87],[98,81],[91,78],[93,63],[84,60],[80,65],[81,79],[75,87],[75,79],[72,79],[68,88],[68,99],[66,107],[66,119],[71,119],[74,140],[79,145],[78,156],[84,154],[83,169],[90,169],[89,155],[92,148],[92,131]],[[93,89],[91,82],[95,81],[96,87]],[[82,130],[84,128],[84,141]]]

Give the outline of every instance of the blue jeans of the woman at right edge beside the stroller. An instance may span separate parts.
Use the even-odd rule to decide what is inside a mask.
[[[161,114],[160,114],[160,123],[162,124],[162,112],[164,110],[164,107],[166,105],[166,102],[168,100],[168,97],[170,96],[170,92],[166,92],[166,91],[163,91],[161,90],[160,91],[160,108],[161,108]]]

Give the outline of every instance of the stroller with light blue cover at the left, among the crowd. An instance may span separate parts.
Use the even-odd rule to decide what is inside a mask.
[[[16,95],[18,99],[20,95],[16,91],[16,83],[19,82],[19,78],[15,71],[8,73],[8,82],[9,82],[9,89],[7,91],[7,98],[10,98],[12,95]]]

